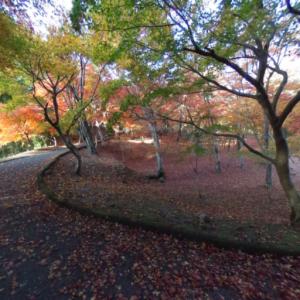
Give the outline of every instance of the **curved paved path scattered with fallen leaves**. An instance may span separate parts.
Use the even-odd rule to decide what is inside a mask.
[[[0,164],[0,299],[300,298],[300,258],[224,251],[49,203],[35,177],[57,153]]]

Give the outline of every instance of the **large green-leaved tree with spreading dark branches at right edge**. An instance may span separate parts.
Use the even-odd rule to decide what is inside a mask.
[[[275,166],[291,207],[292,224],[300,223],[300,194],[290,177],[289,147],[283,125],[300,101],[296,92],[279,110],[278,103],[288,82],[277,54],[291,48],[299,28],[293,15],[279,0],[222,1],[212,8],[204,1],[101,1],[92,5],[99,32],[122,32],[120,45],[139,46],[170,57],[177,66],[188,69],[211,87],[257,102],[272,130],[275,155],[251,147],[238,134],[208,132],[234,137]],[[275,51],[274,51],[275,49]],[[256,68],[247,69],[250,61]],[[149,62],[150,63],[150,62]],[[220,80],[220,72],[222,79]],[[235,89],[226,74],[234,73],[245,84]],[[275,73],[280,82],[273,95],[267,78]],[[247,88],[249,87],[249,88]],[[190,120],[193,123],[193,120]]]

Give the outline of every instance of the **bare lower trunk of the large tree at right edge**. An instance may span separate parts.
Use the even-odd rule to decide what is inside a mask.
[[[291,180],[289,168],[289,148],[282,129],[274,130],[276,143],[275,167],[281,186],[289,200],[292,225],[300,225],[300,194]]]

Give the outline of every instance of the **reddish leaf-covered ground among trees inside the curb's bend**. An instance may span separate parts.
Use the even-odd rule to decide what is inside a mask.
[[[167,209],[193,215],[206,214],[213,218],[254,221],[258,224],[288,224],[289,207],[273,170],[273,187],[264,186],[265,166],[254,158],[245,157],[244,168],[234,150],[221,152],[222,173],[214,170],[211,155],[196,157],[187,153],[186,144],[171,139],[162,141],[166,171],[164,183],[146,179],[155,172],[155,155],[151,144],[114,140],[100,146],[99,156],[83,151],[83,175],[70,176],[71,156],[57,165],[56,190],[72,198],[73,190],[85,203],[100,201],[113,206],[118,201],[141,207],[165,203]],[[300,187],[300,164],[292,163],[292,176]],[[159,205],[160,205],[159,204]],[[130,205],[128,205],[130,206]],[[126,214],[126,212],[125,212]]]

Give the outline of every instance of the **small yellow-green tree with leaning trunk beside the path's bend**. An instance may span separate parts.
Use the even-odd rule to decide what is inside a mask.
[[[63,47],[64,46],[64,47]],[[78,68],[72,60],[69,44],[61,45],[59,36],[47,41],[33,37],[32,47],[26,59],[20,62],[24,72],[32,81],[32,97],[41,107],[47,121],[61,137],[76,158],[76,174],[81,172],[81,155],[73,144],[70,132],[90,102],[64,109],[62,95],[75,80]]]

